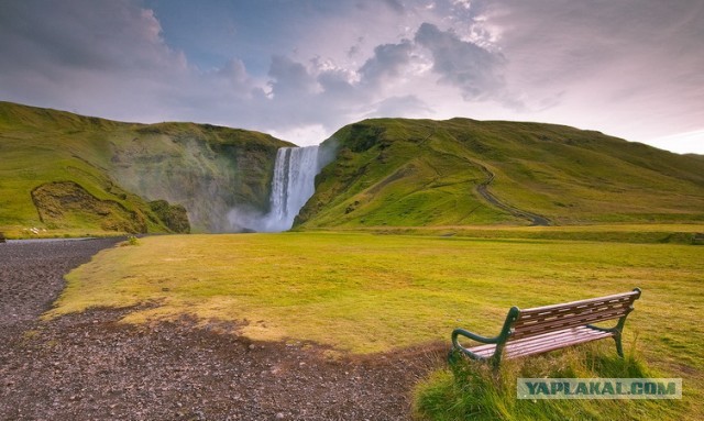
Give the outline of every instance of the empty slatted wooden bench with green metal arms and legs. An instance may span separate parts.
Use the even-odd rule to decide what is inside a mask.
[[[616,352],[624,356],[622,332],[626,317],[634,310],[634,301],[640,289],[588,300],[520,310],[512,307],[498,336],[484,337],[464,329],[452,331],[452,352],[473,359],[490,361],[497,367],[502,357],[516,358],[541,354],[585,342],[613,337]],[[600,328],[594,323],[609,320],[618,322],[614,328]],[[483,345],[464,347],[460,336]]]

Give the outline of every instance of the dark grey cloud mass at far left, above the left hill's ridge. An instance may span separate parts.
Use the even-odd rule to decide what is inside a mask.
[[[164,99],[152,96],[173,91],[170,86],[190,71],[185,56],[161,38],[151,11],[133,2],[68,0],[51,13],[43,1],[2,8],[0,95],[6,100],[151,120],[161,114],[156,110]]]

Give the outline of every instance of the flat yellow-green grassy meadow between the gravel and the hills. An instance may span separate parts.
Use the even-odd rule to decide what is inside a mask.
[[[539,230],[557,235],[575,229]],[[690,226],[695,230],[704,228]],[[363,232],[152,236],[101,252],[75,269],[46,317],[151,302],[155,306],[135,308],[125,321],[188,313],[204,323],[235,321],[242,334],[256,340],[373,354],[435,341],[449,345],[457,326],[494,335],[510,306],[640,287],[642,297],[626,324],[626,352],[640,355],[663,377],[683,378],[684,399],[666,403],[668,413],[702,419],[704,247],[575,237]],[[613,343],[604,353],[615,355]],[[437,376],[443,381],[443,374]]]

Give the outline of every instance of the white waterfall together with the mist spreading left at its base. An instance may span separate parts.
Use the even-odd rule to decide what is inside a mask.
[[[282,232],[294,220],[316,190],[316,176],[332,159],[328,148],[319,146],[282,147],[276,153],[270,212],[233,208],[228,219],[233,231]]]

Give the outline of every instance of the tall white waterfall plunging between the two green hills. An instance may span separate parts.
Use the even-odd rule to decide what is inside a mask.
[[[318,146],[282,147],[276,153],[272,180],[271,211],[264,231],[286,231],[315,192],[320,170]]]

